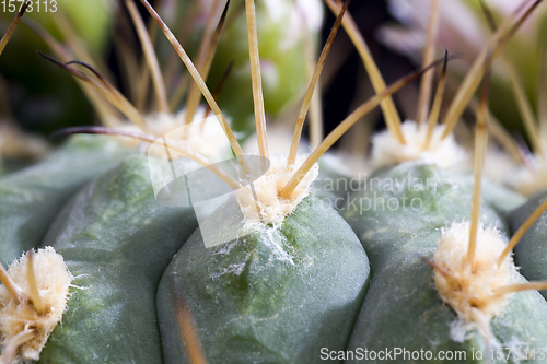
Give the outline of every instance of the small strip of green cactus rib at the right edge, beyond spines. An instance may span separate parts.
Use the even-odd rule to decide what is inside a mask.
[[[547,191],[537,192],[525,204],[513,210],[509,222],[513,231],[524,223],[526,218],[543,202]],[[521,267],[521,273],[529,281],[547,280],[547,214],[542,216],[528,228],[514,248],[515,262]],[[547,300],[547,292],[540,292]]]

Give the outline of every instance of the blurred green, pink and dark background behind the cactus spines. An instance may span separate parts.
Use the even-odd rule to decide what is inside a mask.
[[[8,0],[4,2],[9,3]],[[9,11],[9,8],[5,8],[4,2],[0,3],[1,34],[5,32],[15,15]],[[36,52],[39,50],[58,57],[31,27],[39,24],[69,50],[73,50],[74,44],[82,45],[91,55],[91,59],[95,60],[94,67],[130,101],[138,97],[137,83],[133,79],[142,73],[141,64],[144,62],[139,38],[124,1],[57,0],[54,2],[58,10],[56,12],[53,9],[46,12],[44,8],[38,12],[35,4],[34,11],[25,14],[24,21],[0,57],[0,89],[3,101],[0,103],[0,117],[9,117],[23,130],[42,136],[48,136],[55,130],[69,126],[96,125],[100,120],[74,79]],[[208,7],[213,2],[214,0],[200,0],[196,5],[190,0],[151,1],[167,24],[174,28],[174,33],[181,35],[179,39],[193,59],[197,58],[207,23]],[[513,0],[486,2],[497,21],[511,14],[520,3]],[[181,89],[181,84],[184,86],[185,82],[189,87],[188,81],[184,80],[185,70],[178,58],[174,56],[173,48],[151,22],[140,2],[136,1],[136,3],[151,31],[160,63],[165,71],[164,75],[168,75],[167,92],[173,95],[177,92],[177,87]],[[246,66],[248,63],[245,49],[246,38],[242,36],[244,33],[241,33],[244,32],[244,23],[242,23],[243,19],[238,19],[244,15],[242,4],[243,1],[240,0],[232,1],[230,5],[226,25],[208,84],[211,90],[216,89],[228,64],[234,61],[234,69],[228,75],[226,85],[219,94],[219,104],[223,110],[228,110],[236,129],[248,134],[253,120],[252,96],[248,66]],[[19,5],[18,3],[18,8]],[[356,0],[350,3],[349,12],[364,36],[386,83],[396,81],[420,66],[429,7],[430,0]],[[268,61],[263,60],[267,110],[269,120],[274,122],[283,115],[291,115],[287,110],[301,99],[301,90],[307,82],[305,64],[302,62],[303,47],[300,43],[295,43],[292,45],[294,49],[287,51],[287,47],[290,47],[286,44],[287,31],[289,31],[289,38],[304,37],[299,33],[302,26],[299,21],[305,21],[311,34],[310,42],[315,54],[318,55],[328,37],[335,16],[319,0],[257,0],[257,12],[259,37],[260,32],[266,34],[259,39],[261,40],[260,52],[266,55],[265,58],[274,64],[270,67]],[[268,20],[269,12],[279,12],[279,19]],[[299,15],[294,17],[293,13],[299,13]],[[542,77],[542,64],[545,63],[543,56],[545,42],[542,39],[546,38],[547,33],[547,22],[542,21],[545,19],[545,9],[542,9],[534,14],[508,46],[508,55],[521,77],[534,110],[542,106],[538,90],[540,90],[540,84],[545,83],[545,78]],[[444,48],[447,48],[451,54],[461,55],[459,59],[452,61],[449,66],[457,82],[486,44],[491,32],[478,0],[442,0],[440,16],[438,55],[441,56]],[[278,34],[278,31],[271,31],[280,26],[286,33]],[[317,27],[317,31],[314,27]],[[243,74],[246,72],[247,74]],[[144,82],[144,84],[148,89],[152,89],[150,82]],[[342,120],[358,103],[373,94],[361,59],[344,30],[340,30],[335,40],[321,84],[325,133]],[[418,86],[419,83],[416,82],[394,96],[403,118],[416,116]],[[449,90],[447,99],[451,93]],[[185,93],[181,95],[179,102],[172,103],[172,111],[184,107]],[[522,121],[509,81],[503,68],[499,64],[494,68],[490,98],[492,113],[512,133],[523,136]],[[152,91],[146,93],[146,101],[141,102],[141,105],[142,111],[154,111]],[[466,114],[465,118],[473,122],[474,116]],[[293,121],[287,122],[290,125]],[[368,126],[373,129],[383,128],[381,113],[373,113],[369,116]],[[365,139],[357,142],[365,144]]]

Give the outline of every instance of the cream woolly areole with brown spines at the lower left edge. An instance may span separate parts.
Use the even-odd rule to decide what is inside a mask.
[[[8,268],[8,274],[21,289],[20,303],[16,304],[4,285],[0,285],[0,336],[5,345],[18,333],[33,329],[34,337],[20,347],[20,360],[38,360],[47,338],[61,320],[67,308],[70,282],[73,277],[68,271],[62,256],[53,247],[45,247],[34,254],[33,263],[36,284],[45,305],[39,315],[32,304],[27,282],[28,255],[24,254]]]

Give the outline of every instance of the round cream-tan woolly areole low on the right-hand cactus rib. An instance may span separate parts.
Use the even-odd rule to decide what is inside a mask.
[[[505,244],[496,227],[479,224],[472,270],[467,258],[469,228],[468,222],[443,228],[433,259],[446,274],[435,269],[435,286],[442,301],[456,312],[463,324],[474,324],[487,340],[492,340],[490,320],[503,312],[510,296],[496,295],[494,291],[516,282],[516,268],[509,255],[498,266]],[[469,328],[468,325],[458,327]],[[465,332],[453,332],[457,337],[463,334]]]

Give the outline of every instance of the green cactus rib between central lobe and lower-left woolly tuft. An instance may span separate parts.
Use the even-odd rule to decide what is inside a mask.
[[[191,208],[155,201],[147,157],[129,157],[88,185],[45,238],[77,287],[40,363],[161,363],[156,287],[196,227]]]

